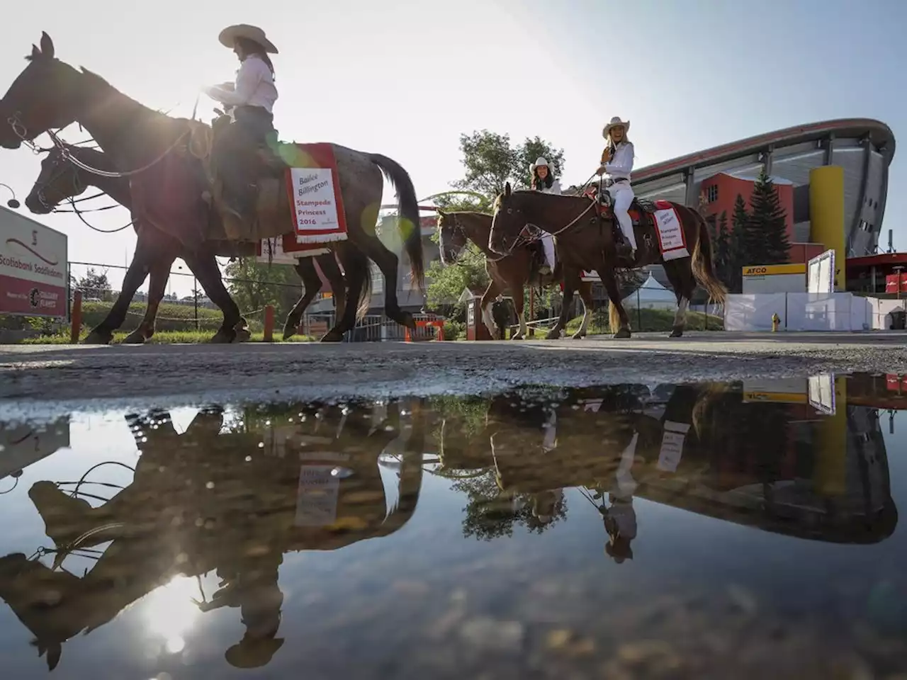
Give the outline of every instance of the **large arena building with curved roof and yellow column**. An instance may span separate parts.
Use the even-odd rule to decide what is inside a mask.
[[[790,261],[806,262],[834,249],[836,261],[847,262],[839,288],[846,280],[847,289],[881,292],[894,266],[892,255],[878,255],[893,156],[894,134],[881,121],[814,122],[641,168],[633,173],[633,189],[640,198],[704,206],[707,215],[727,210],[729,219],[736,195],[748,199],[753,181],[766,170],[787,214]],[[902,258],[907,254],[894,257]],[[654,276],[667,285],[658,269]]]

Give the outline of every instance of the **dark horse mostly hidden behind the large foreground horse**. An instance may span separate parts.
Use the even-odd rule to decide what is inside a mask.
[[[73,162],[73,159],[75,162]],[[102,170],[108,174],[98,175],[92,172],[85,172],[80,170],[79,165],[76,163]],[[63,145],[63,147],[54,147],[49,150],[47,156],[41,162],[41,173],[34,180],[34,186],[25,199],[25,206],[35,214],[46,215],[64,200],[72,201],[89,186],[93,186],[101,189],[105,194],[122,205],[123,208],[132,211],[129,180],[115,176],[115,170],[112,160],[103,151],[70,144]],[[73,209],[75,209],[74,201]],[[223,286],[215,257],[218,255],[223,257],[250,255],[251,252],[247,252],[250,251],[250,248],[241,248],[239,244],[230,241],[209,241],[203,244],[202,248],[193,251],[190,248],[186,248],[179,239],[151,225],[134,222],[133,226],[138,236],[138,241],[135,253],[132,256],[132,263],[126,272],[126,276],[123,277],[122,291],[113,303],[111,311],[100,324],[92,329],[88,337],[83,340],[83,344],[107,345],[111,342],[113,331],[119,328],[125,320],[132,297],[138,287],[141,286],[141,282],[146,275],[150,277],[150,282],[145,316],[142,318],[139,327],[126,336],[123,343],[141,345],[149,340],[154,335],[154,321],[157,316],[158,306],[160,306],[164,295],[164,287],[170,276],[171,266],[177,257],[183,258],[195,277],[199,279],[201,286],[208,293],[211,300],[224,312],[224,318],[226,319],[230,316],[225,306],[235,306],[235,303]],[[291,317],[296,312],[301,317],[306,307],[322,287],[321,278],[318,277],[312,259],[311,257],[303,257],[297,260],[296,271],[302,279],[305,295],[294,306]],[[346,282],[343,273],[337,267],[334,254],[319,255],[315,259],[317,259],[318,265],[325,273],[325,277],[327,277],[331,289],[334,291],[336,316],[343,316],[342,309],[346,304]],[[367,311],[368,296],[364,296],[363,300],[366,309],[363,309],[362,305],[360,305],[358,316],[365,316]],[[241,324],[243,333],[239,335],[248,337],[244,318]],[[292,324],[292,319],[288,318],[287,325],[284,327],[285,339],[293,335],[297,325],[298,320],[295,324]],[[219,342],[222,335],[219,331],[218,335],[215,335],[213,342]]]

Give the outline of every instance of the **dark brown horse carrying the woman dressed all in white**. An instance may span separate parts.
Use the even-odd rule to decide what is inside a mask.
[[[664,204],[664,205],[662,205]],[[616,220],[610,209],[601,207],[588,197],[557,196],[539,191],[513,191],[510,182],[494,201],[494,217],[488,247],[506,255],[526,240],[536,238],[533,229],[541,228],[558,238],[558,251],[564,265],[564,307],[566,315],[576,287],[576,272],[598,272],[610,299],[611,328],[619,326],[615,338],[629,338],[629,316],[620,303],[620,291],[615,269],[632,269],[647,265],[662,265],[674,288],[678,310],[670,337],[683,335],[687,324],[687,307],[697,283],[704,287],[710,299],[724,303],[727,289],[715,275],[712,264],[712,243],[706,220],[694,209],[679,203],[660,201],[643,205],[639,200],[631,206],[637,216],[635,225],[640,245],[636,258],[619,257],[616,248]],[[679,228],[691,255],[666,260],[658,246],[654,213],[673,209]],[[641,220],[641,221],[639,221]],[[532,227],[534,225],[534,227]]]

